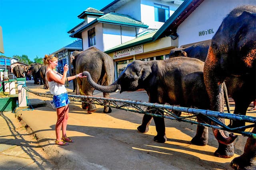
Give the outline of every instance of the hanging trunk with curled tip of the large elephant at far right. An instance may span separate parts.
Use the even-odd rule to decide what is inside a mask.
[[[218,58],[212,51],[212,47],[209,47],[208,56],[204,63],[204,84],[206,86],[206,91],[208,93],[210,99],[210,109],[213,111],[224,111],[224,92],[222,88],[222,83],[224,82],[224,78],[220,78],[220,76],[216,73],[216,67],[218,64]],[[214,136],[218,140],[219,143],[224,145],[228,145],[232,143],[237,135],[220,130],[220,129],[212,129]]]

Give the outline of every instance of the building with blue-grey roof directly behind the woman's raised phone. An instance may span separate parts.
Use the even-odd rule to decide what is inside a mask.
[[[56,70],[63,74],[63,67],[65,64],[68,64],[69,66],[69,70],[67,75],[70,76],[72,74],[72,72],[70,72],[70,70],[73,70],[73,65],[72,65],[72,52],[73,51],[82,51],[82,40],[81,39],[77,39],[76,41],[74,41],[73,43],[66,45],[65,47],[55,51],[54,54],[56,57],[58,57],[58,66],[56,68]]]

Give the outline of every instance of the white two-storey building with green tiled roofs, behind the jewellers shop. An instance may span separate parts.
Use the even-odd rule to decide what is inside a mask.
[[[80,38],[83,50],[101,51],[126,43],[141,34],[159,29],[183,0],[114,0],[101,10],[87,8],[83,19],[68,33]]]

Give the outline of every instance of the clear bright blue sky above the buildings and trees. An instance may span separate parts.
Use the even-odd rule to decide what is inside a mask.
[[[0,0],[4,55],[31,61],[76,41],[67,33],[83,20],[86,8],[101,10],[114,0]]]

